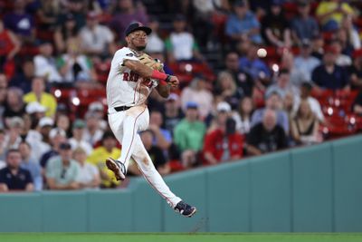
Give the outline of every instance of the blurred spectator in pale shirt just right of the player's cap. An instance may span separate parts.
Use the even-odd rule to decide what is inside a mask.
[[[151,17],[149,19],[148,27],[152,29],[152,32],[151,34],[148,34],[148,44],[145,51],[147,53],[164,53],[165,43],[159,36],[159,23],[156,17]],[[156,58],[155,56],[153,57]]]

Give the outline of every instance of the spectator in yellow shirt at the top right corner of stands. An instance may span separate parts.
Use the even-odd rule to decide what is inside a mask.
[[[344,15],[353,16],[354,11],[347,2],[341,0],[324,0],[316,9],[316,16],[324,31],[337,30]]]

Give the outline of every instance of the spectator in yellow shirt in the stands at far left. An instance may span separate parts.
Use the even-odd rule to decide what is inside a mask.
[[[54,117],[57,102],[52,94],[45,92],[45,81],[41,77],[34,77],[32,81],[32,92],[24,95],[24,102],[39,102],[46,108],[45,115]]]

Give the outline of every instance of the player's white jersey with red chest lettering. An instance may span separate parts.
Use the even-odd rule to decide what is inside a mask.
[[[124,66],[125,60],[138,61],[135,51],[128,47],[118,50],[110,65],[110,74],[107,80],[107,103],[109,111],[119,106],[137,106],[146,102],[157,82],[145,79]]]

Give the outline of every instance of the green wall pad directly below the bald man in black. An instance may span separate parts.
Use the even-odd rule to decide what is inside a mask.
[[[251,231],[291,231],[291,167],[289,152],[250,160]]]

